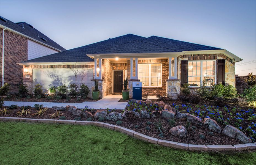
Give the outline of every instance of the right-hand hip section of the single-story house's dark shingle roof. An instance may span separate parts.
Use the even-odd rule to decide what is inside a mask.
[[[220,50],[212,46],[205,46],[190,42],[184,42],[179,40],[173,40],[169,38],[151,36],[142,40],[143,42],[163,46],[165,48],[173,49],[176,51],[196,51],[196,50]]]

